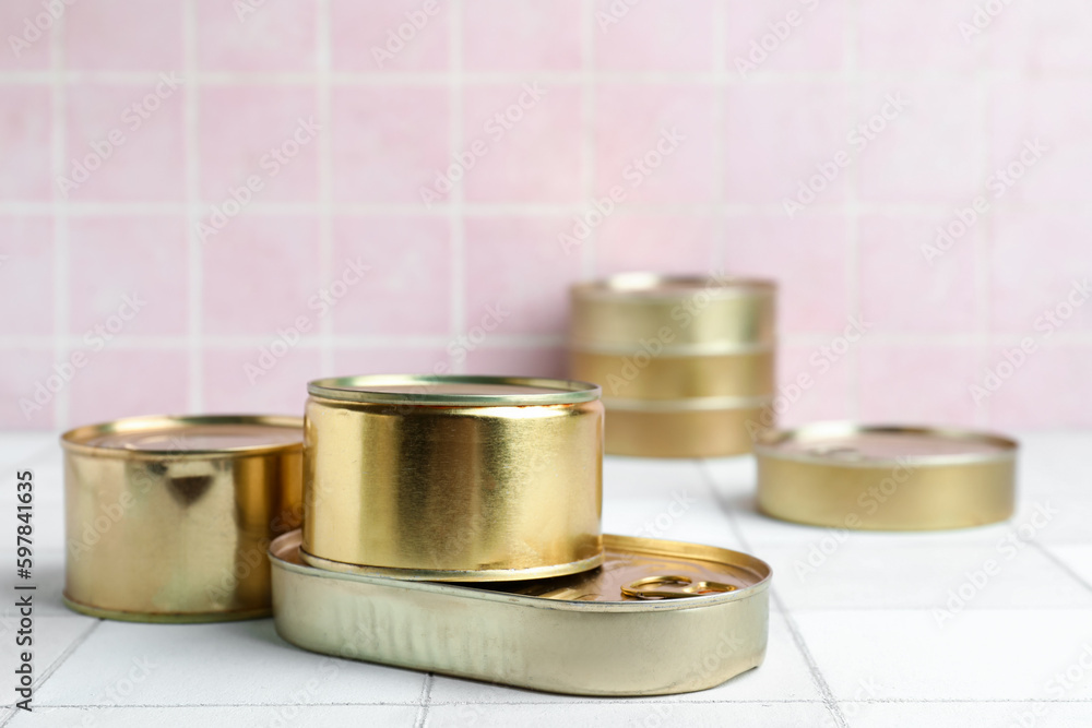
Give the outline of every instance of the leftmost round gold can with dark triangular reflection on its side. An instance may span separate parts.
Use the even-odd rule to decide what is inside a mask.
[[[132,417],[70,430],[64,602],[105,619],[270,613],[270,541],[298,528],[298,417]]]

